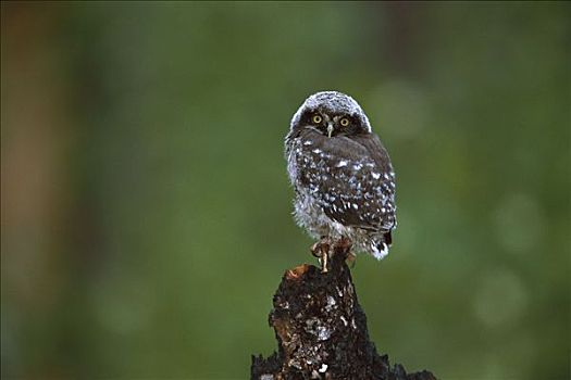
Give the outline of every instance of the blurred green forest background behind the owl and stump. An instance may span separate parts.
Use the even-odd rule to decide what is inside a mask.
[[[283,157],[353,96],[399,227],[353,277],[378,351],[568,379],[567,3],[2,2],[5,379],[244,379],[312,262]]]

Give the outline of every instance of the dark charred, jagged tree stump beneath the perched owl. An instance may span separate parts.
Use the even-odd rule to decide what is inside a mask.
[[[392,367],[376,353],[346,264],[349,250],[333,248],[327,273],[308,264],[285,273],[269,317],[278,351],[265,359],[252,355],[251,379],[436,379]]]

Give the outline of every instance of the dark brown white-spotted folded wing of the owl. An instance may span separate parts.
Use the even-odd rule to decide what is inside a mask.
[[[313,186],[312,193],[325,214],[345,226],[390,231],[395,226],[395,181],[380,139],[375,135],[314,136],[309,141],[303,148],[310,163],[300,165],[307,170],[300,175]]]

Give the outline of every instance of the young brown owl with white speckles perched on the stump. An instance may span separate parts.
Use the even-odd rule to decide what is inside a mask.
[[[396,227],[395,173],[361,106],[337,91],[306,99],[285,138],[297,224],[318,239],[326,271],[331,244],[349,240],[377,259]]]

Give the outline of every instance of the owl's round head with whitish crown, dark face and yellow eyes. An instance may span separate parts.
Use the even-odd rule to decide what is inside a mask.
[[[290,128],[312,127],[325,136],[371,134],[363,110],[351,97],[337,91],[318,92],[306,99]]]

